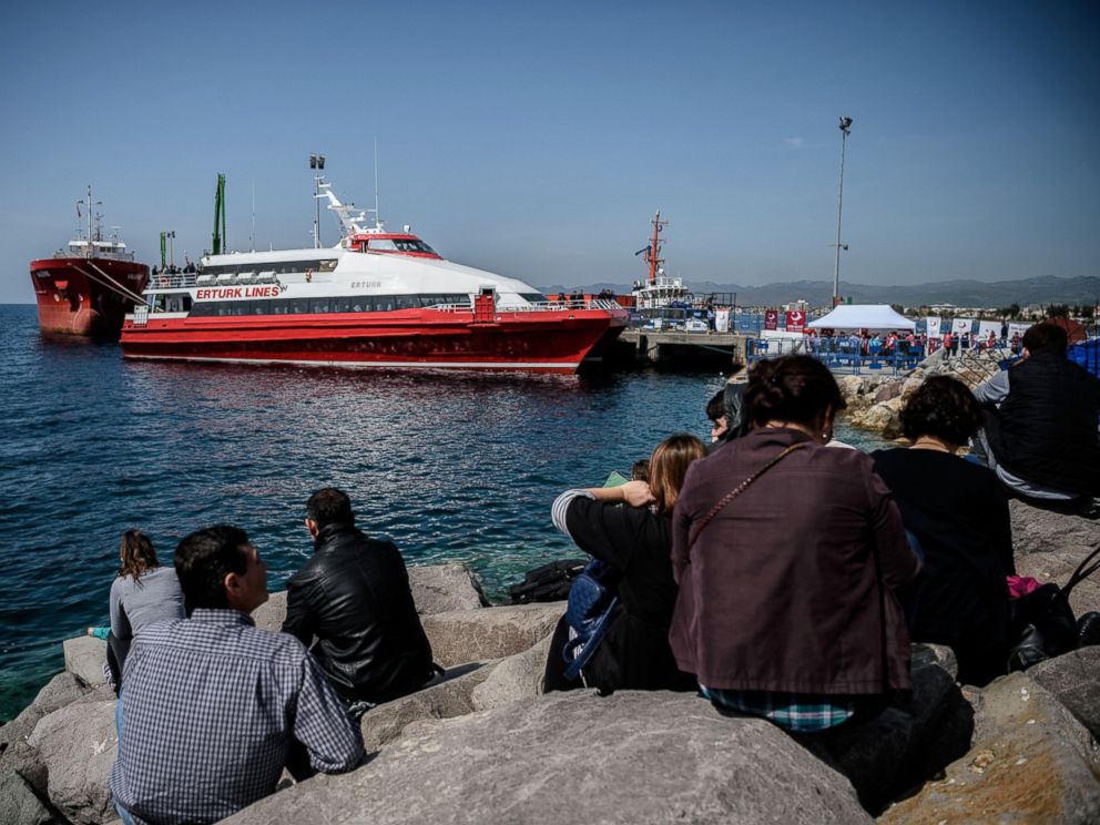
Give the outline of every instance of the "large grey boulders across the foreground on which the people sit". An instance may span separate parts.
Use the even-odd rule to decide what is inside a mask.
[[[1019,564],[1055,581],[1096,537],[1087,519],[1012,516],[1038,524]],[[410,577],[446,678],[363,717],[363,767],[286,780],[230,822],[1100,822],[1100,648],[977,690],[956,683],[950,650],[914,645],[908,701],[795,737],[693,694],[543,695],[561,603],[486,607],[461,566]],[[1074,598],[1100,608],[1100,591]],[[255,619],[275,632],[284,612],[274,593]],[[91,642],[69,658],[89,676]],[[0,822],[113,819],[113,712],[106,689],[65,672],[0,727]]]

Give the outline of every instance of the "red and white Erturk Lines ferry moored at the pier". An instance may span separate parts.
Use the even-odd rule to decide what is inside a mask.
[[[549,302],[516,278],[446,261],[340,203],[327,248],[207,255],[154,277],[126,316],[128,358],[573,373],[622,332],[613,301]]]

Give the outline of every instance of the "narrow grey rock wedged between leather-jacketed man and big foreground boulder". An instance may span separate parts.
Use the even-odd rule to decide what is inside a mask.
[[[492,672],[495,665],[471,663],[449,672],[448,679],[380,704],[364,714],[360,723],[363,745],[367,753],[393,742],[412,722],[427,719],[452,719],[477,710],[472,693]]]

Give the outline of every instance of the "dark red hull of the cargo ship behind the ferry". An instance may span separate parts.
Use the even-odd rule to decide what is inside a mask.
[[[134,302],[112,284],[140,295],[149,267],[133,261],[57,257],[31,262],[31,284],[43,333],[116,339]]]

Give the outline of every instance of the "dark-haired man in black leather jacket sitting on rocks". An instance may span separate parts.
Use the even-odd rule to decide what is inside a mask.
[[[306,502],[313,558],[287,581],[283,632],[309,644],[349,704],[388,702],[435,674],[431,645],[412,603],[400,552],[355,527],[347,493],[333,487]]]

